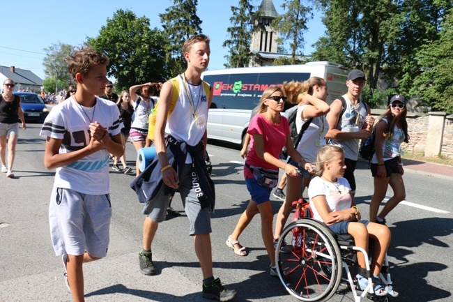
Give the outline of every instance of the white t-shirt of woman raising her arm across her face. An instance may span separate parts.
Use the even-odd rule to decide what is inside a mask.
[[[303,124],[307,122],[308,119],[302,120],[302,112],[308,106],[312,106],[309,104],[298,106],[298,114],[295,117],[295,126],[300,132]],[[329,130],[329,123],[325,116],[316,116],[313,118],[312,123],[308,126],[307,130],[305,130],[304,135],[302,135],[302,139],[300,139],[300,143],[298,144],[296,150],[300,153],[302,158],[304,158],[307,163],[316,163],[316,156],[323,147],[321,144],[316,144],[316,141],[325,142],[325,135]]]

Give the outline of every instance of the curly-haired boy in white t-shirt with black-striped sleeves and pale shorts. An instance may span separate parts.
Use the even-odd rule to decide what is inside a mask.
[[[63,255],[66,285],[84,301],[82,264],[107,255],[112,205],[109,153],[121,157],[123,122],[115,103],[103,100],[109,58],[90,48],[68,56],[77,92],[49,113],[44,164],[56,169],[49,226],[56,255]]]

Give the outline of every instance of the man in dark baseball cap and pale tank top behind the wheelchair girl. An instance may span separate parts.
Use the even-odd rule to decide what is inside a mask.
[[[330,139],[330,144],[341,146],[344,150],[346,165],[344,178],[348,180],[353,195],[355,195],[354,171],[359,158],[359,142],[360,139],[371,136],[374,125],[374,117],[370,115],[369,106],[360,98],[366,81],[362,70],[351,70],[346,81],[348,92],[332,102],[330,112],[326,116],[329,130],[325,138]]]

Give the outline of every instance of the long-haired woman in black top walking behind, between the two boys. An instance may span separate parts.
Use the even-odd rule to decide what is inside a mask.
[[[132,171],[130,167],[126,164],[126,142],[129,139],[130,125],[132,124],[132,114],[134,114],[134,106],[132,105],[132,100],[130,99],[130,94],[128,91],[121,91],[118,102],[116,102],[118,109],[120,110],[121,119],[123,119],[124,128],[121,129],[121,137],[123,138],[124,154],[121,156],[121,164],[124,168],[124,174],[128,174]],[[114,159],[114,164],[112,169],[115,171],[121,171],[118,167],[118,158]]]

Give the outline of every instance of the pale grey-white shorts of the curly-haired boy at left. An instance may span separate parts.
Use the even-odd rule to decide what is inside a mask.
[[[75,190],[52,190],[49,226],[56,255],[89,255],[102,258],[109,247],[112,205],[109,194],[89,195]]]

